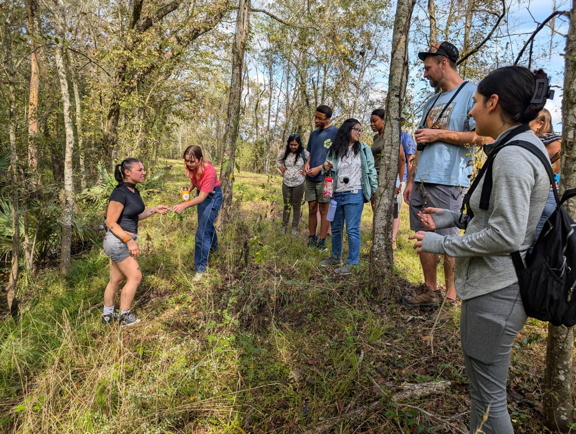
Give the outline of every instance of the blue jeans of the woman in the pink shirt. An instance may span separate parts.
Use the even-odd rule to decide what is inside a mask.
[[[222,205],[222,188],[215,187],[198,208],[198,230],[196,231],[196,245],[194,247],[194,265],[198,273],[204,273],[208,263],[208,255],[218,251],[218,236],[214,221]]]

